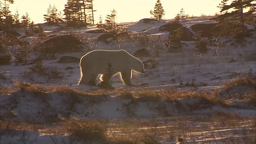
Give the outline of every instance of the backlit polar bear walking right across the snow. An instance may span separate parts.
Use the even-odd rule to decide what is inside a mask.
[[[106,76],[111,64],[112,74]],[[131,83],[132,71],[145,73],[144,64],[125,50],[93,50],[84,55],[80,60],[80,84],[95,84],[96,78],[101,74],[100,81],[110,82],[112,76],[120,73],[121,80],[127,86]]]

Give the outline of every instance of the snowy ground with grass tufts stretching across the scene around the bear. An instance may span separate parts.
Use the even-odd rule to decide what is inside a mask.
[[[29,74],[29,68],[32,65],[16,66],[12,63],[1,66],[1,75],[5,77],[1,79],[3,88],[14,86],[15,80],[18,80],[35,84],[39,87],[38,89],[45,88],[44,86],[57,86],[57,89],[62,90],[64,86],[67,86],[66,89],[70,88],[70,90],[69,92],[56,90],[34,92],[24,88],[11,94],[1,94],[2,118],[0,120],[2,121],[0,122],[3,122],[3,126],[1,126],[0,143],[83,143],[71,142],[70,133],[62,131],[60,128],[62,124],[58,123],[66,120],[84,122],[103,120],[107,126],[106,134],[110,138],[118,136],[136,138],[146,135],[150,138],[153,137],[161,144],[173,144],[176,143],[176,136],[183,136],[187,143],[195,144],[253,143],[256,131],[256,106],[246,100],[241,100],[239,94],[243,95],[247,92],[252,93],[255,97],[255,88],[238,86],[235,87],[236,90],[230,90],[231,92],[225,91],[222,94],[225,98],[221,99],[228,106],[217,102],[208,103],[207,100],[200,97],[184,97],[182,92],[188,95],[195,92],[198,95],[206,94],[208,96],[208,92],[217,91],[216,94],[220,94],[224,82],[239,77],[255,76],[256,32],[253,32],[253,36],[250,38],[246,38],[246,42],[243,44],[234,42],[232,36],[216,38],[212,46],[208,46],[210,50],[205,54],[200,54],[193,42],[183,42],[182,50],[170,52],[163,44],[169,33],[159,32],[159,27],[168,22],[170,20],[148,24],[124,23],[122,25],[128,26],[132,38],[118,40],[110,44],[98,42],[96,37],[100,34],[85,33],[96,29],[95,26],[69,31],[72,34],[85,37],[83,42],[87,47],[84,52],[60,56],[81,58],[88,52],[88,49],[124,49],[130,54],[134,54],[136,50],[146,48],[151,56],[139,59],[142,62],[147,60],[152,60],[152,62],[147,63],[145,74],[133,73],[132,82],[138,87],[124,86],[119,76],[112,78],[114,90],[98,90],[98,87],[78,86],[76,84],[80,78],[79,64],[59,64],[58,59],[44,60],[43,64],[56,67],[64,72],[62,79],[48,80],[36,74]],[[210,21],[208,18],[192,18],[181,22],[186,27],[196,23],[210,23]],[[56,26],[46,26],[45,28],[46,34],[49,35],[68,33]],[[24,34],[24,31],[20,31],[20,33],[22,32]],[[36,36],[24,38],[30,42],[34,39]],[[228,42],[224,42],[227,40]],[[33,56],[31,57],[33,58]],[[72,90],[75,92],[80,90],[79,92],[82,94],[75,94]],[[144,94],[143,92],[148,93]],[[169,94],[167,94],[168,92]],[[166,95],[172,97],[177,92],[181,92],[180,97],[163,98]],[[156,96],[152,99],[148,99],[148,97],[143,99],[144,95],[150,93]],[[134,97],[129,97],[129,94]],[[4,129],[6,122],[12,120],[31,123],[36,128],[33,130],[17,127],[14,128],[16,130]],[[129,126],[125,127],[124,125]],[[58,132],[52,132],[49,129]]]

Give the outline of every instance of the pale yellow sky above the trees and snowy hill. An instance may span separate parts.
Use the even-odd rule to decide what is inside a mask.
[[[180,11],[184,9],[186,14],[190,16],[200,16],[201,14],[214,15],[219,12],[217,8],[221,0],[161,0],[165,10],[164,19],[172,19]],[[67,0],[14,0],[14,4],[10,4],[12,14],[18,9],[20,16],[28,12],[29,17],[35,23],[43,23],[44,14],[47,12],[49,4],[55,4],[58,11],[64,9]],[[103,20],[106,14],[111,14],[113,8],[117,12],[117,23],[121,22],[137,22],[142,18],[150,18],[150,10],[154,10],[156,0],[94,0],[94,20],[98,22],[100,15]]]

